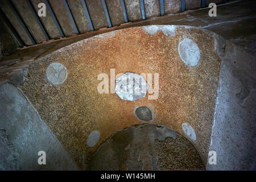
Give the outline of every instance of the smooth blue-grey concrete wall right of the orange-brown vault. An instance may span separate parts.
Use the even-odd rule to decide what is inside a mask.
[[[208,164],[208,170],[256,169],[255,80],[255,55],[227,43],[209,148],[217,164]]]

